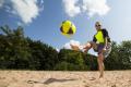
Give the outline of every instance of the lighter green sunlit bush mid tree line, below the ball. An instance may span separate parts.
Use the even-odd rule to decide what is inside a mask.
[[[61,49],[58,58],[60,62],[56,65],[55,70],[80,71],[87,67],[83,60],[82,52]]]

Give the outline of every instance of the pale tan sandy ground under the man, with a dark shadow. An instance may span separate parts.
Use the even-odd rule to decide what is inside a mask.
[[[131,71],[0,71],[0,87],[131,87]]]

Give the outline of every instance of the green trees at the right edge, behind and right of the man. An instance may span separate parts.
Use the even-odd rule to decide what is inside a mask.
[[[110,55],[105,60],[106,70],[131,69],[131,41],[122,41],[121,45],[112,42]]]

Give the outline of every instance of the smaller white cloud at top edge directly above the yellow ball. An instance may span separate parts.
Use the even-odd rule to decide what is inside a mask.
[[[79,0],[63,0],[66,13],[69,16],[74,16],[81,12],[80,7],[76,5]]]

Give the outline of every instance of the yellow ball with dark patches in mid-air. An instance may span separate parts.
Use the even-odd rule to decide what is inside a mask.
[[[76,27],[71,21],[63,21],[60,26],[60,32],[62,35],[73,35],[76,32]]]

